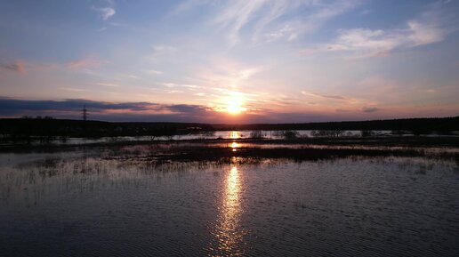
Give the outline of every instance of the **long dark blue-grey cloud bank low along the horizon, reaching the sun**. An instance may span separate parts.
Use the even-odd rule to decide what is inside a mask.
[[[106,121],[266,123],[307,122],[341,119],[317,113],[246,113],[231,117],[202,105],[151,102],[107,102],[84,99],[18,100],[0,97],[0,117],[53,116],[80,119],[83,107],[91,119]]]

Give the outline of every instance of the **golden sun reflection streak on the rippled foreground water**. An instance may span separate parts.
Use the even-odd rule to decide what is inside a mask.
[[[240,227],[242,177],[236,165],[226,174],[217,225],[213,231],[212,255],[241,255],[245,231]]]

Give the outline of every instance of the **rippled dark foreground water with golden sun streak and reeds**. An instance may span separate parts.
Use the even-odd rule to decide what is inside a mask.
[[[454,161],[113,155],[0,155],[0,256],[459,255]]]

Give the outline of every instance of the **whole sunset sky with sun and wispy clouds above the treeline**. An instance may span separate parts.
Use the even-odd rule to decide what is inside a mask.
[[[0,0],[0,117],[459,116],[457,0]]]

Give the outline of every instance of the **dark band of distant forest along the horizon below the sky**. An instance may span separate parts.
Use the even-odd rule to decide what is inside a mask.
[[[24,139],[28,137],[172,136],[175,134],[230,130],[383,130],[406,131],[414,134],[448,133],[459,131],[459,116],[302,124],[101,122],[53,119],[51,117],[0,119],[0,136],[4,139]]]

